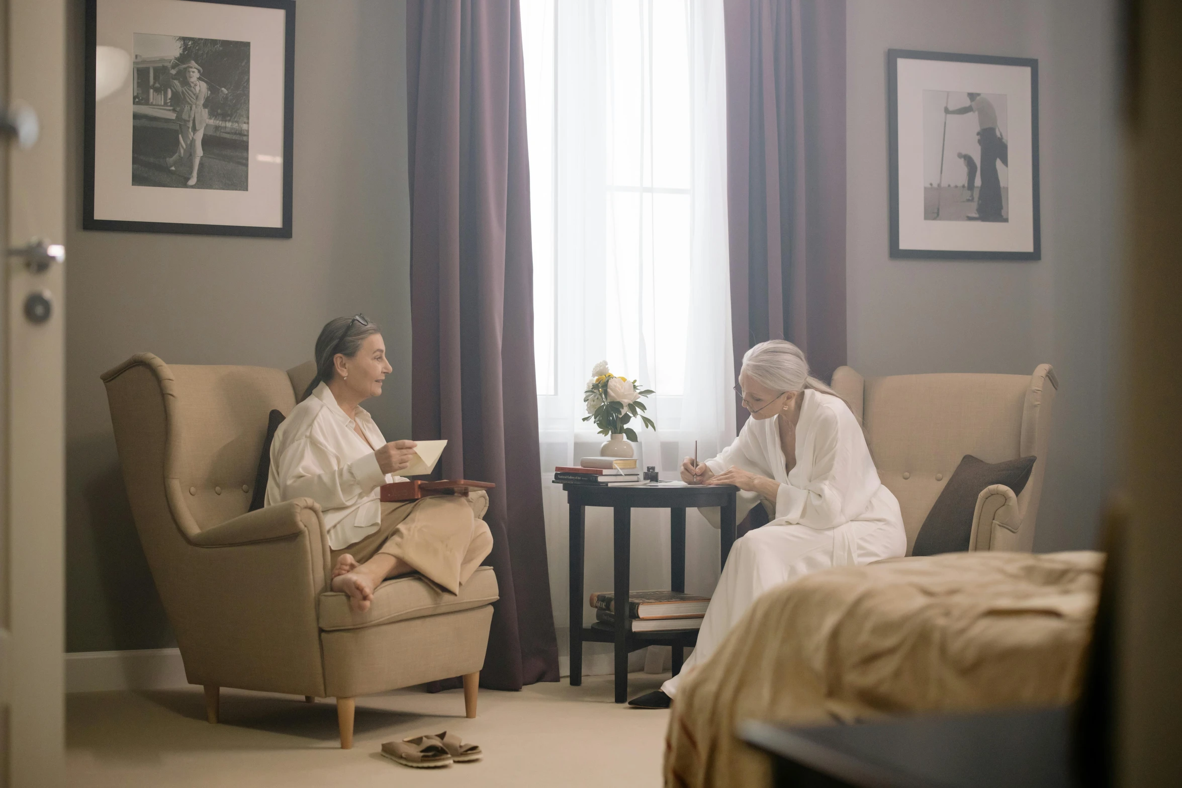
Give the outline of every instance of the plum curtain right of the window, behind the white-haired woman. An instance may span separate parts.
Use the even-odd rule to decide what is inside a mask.
[[[723,5],[735,373],[787,339],[827,380],[845,363],[845,0]]]

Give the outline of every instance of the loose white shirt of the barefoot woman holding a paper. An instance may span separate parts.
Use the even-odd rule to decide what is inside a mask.
[[[310,497],[320,504],[332,549],[361,541],[382,522],[381,486],[405,481],[382,473],[374,450],[383,445],[369,412],[358,408],[356,422],[349,418],[322,383],[275,430],[266,506]]]

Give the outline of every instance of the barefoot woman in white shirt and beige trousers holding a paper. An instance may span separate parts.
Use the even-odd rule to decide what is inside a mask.
[[[363,315],[330,320],[316,340],[317,375],[275,430],[266,503],[310,497],[320,504],[332,548],[332,588],[369,610],[387,578],[418,572],[459,593],[493,549],[481,517],[488,495],[383,503],[381,486],[405,481],[414,441],[387,443],[361,406],[392,372],[377,325]]]

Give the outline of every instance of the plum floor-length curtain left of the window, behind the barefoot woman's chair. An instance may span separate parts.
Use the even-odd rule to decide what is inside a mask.
[[[500,600],[482,686],[558,680],[534,396],[533,261],[517,0],[408,0],[415,437],[495,482]]]

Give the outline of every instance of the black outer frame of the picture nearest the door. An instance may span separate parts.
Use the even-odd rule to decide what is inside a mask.
[[[145,0],[145,2],[162,0]],[[170,1],[170,0],[163,0]],[[121,233],[168,233],[178,235],[233,235],[248,237],[292,237],[292,188],[294,165],[294,103],[296,103],[296,0],[183,0],[223,6],[251,6],[284,12],[284,89],[282,89],[282,195],[281,226],[252,227],[242,224],[203,224],[190,222],[126,221],[95,219],[96,185],[96,50],[98,34],[98,0],[86,0],[86,50],[84,80],[84,151],[83,151],[83,220],[85,230]],[[132,72],[134,73],[134,72]],[[132,77],[134,78],[134,77]]]

